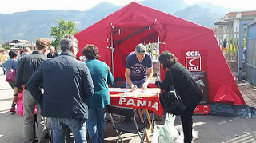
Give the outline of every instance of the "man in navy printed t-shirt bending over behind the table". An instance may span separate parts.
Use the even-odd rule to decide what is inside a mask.
[[[146,47],[140,43],[135,51],[126,58],[126,88],[133,91],[138,88],[146,89],[153,77],[152,58],[146,53]]]

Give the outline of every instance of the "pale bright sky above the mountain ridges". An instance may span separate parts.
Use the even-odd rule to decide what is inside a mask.
[[[126,5],[130,2],[141,2],[143,0],[2,0],[0,5],[1,14],[12,14],[14,12],[28,10],[87,10],[100,2],[111,2],[115,5]],[[229,8],[256,10],[255,0],[183,0],[187,4],[195,2],[210,2],[216,6]]]

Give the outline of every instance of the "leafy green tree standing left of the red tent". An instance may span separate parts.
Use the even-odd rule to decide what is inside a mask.
[[[50,36],[55,38],[55,41],[51,42],[51,46],[58,46],[60,39],[66,34],[74,35],[78,33],[75,29],[76,24],[72,20],[66,21],[63,18],[58,18],[57,21],[58,26],[50,26]]]

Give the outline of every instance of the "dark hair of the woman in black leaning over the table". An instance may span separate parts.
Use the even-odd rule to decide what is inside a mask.
[[[159,62],[162,64],[163,69],[170,68],[177,62],[178,58],[169,51],[163,51],[158,57]]]

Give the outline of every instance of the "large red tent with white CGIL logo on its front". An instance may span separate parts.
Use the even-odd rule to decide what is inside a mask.
[[[210,102],[246,105],[209,28],[132,2],[74,36],[78,58],[86,44],[98,46],[114,77],[124,77],[126,56],[138,43],[159,42],[160,53],[168,50],[188,69],[207,72]]]

